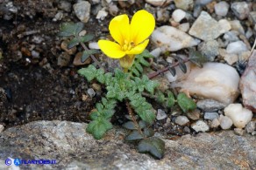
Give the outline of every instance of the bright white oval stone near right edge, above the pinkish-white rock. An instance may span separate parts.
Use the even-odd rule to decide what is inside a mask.
[[[226,51],[229,54],[240,54],[241,52],[248,51],[248,48],[243,41],[236,41],[228,44]]]

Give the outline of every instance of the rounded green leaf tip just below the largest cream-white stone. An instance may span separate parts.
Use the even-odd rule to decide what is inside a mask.
[[[188,98],[187,95],[183,92],[178,95],[177,102],[183,112],[188,112],[196,109],[196,103],[193,101],[193,99]]]

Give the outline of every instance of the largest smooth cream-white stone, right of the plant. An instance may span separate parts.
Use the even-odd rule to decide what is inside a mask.
[[[203,68],[191,65],[188,77],[172,83],[172,86],[228,105],[238,97],[238,82],[238,72],[230,65],[206,63]]]

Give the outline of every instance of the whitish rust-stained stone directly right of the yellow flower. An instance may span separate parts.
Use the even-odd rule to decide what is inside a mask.
[[[151,38],[153,44],[160,47],[162,52],[179,51],[200,43],[199,39],[193,38],[172,26],[161,26],[157,28],[153,31]]]

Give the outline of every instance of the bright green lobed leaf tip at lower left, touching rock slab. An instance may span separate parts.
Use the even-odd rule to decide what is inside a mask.
[[[87,132],[91,133],[95,139],[102,139],[104,133],[112,128],[112,124],[107,119],[96,119],[89,122]]]

